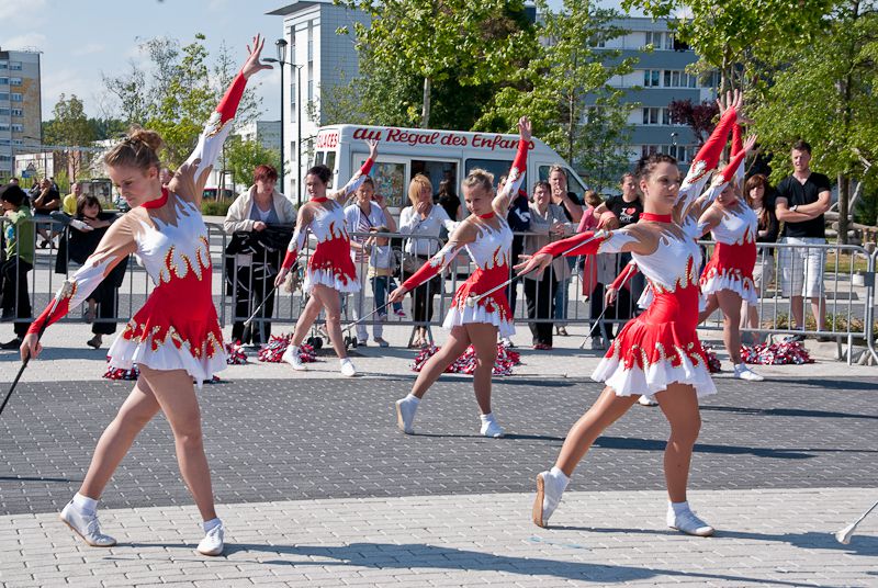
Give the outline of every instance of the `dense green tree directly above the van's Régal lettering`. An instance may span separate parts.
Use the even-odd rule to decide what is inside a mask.
[[[354,25],[357,88],[364,114],[381,124],[469,127],[466,112],[536,46],[521,0],[339,1],[372,18]],[[437,104],[443,106],[439,121]],[[470,112],[469,120],[477,115]]]

